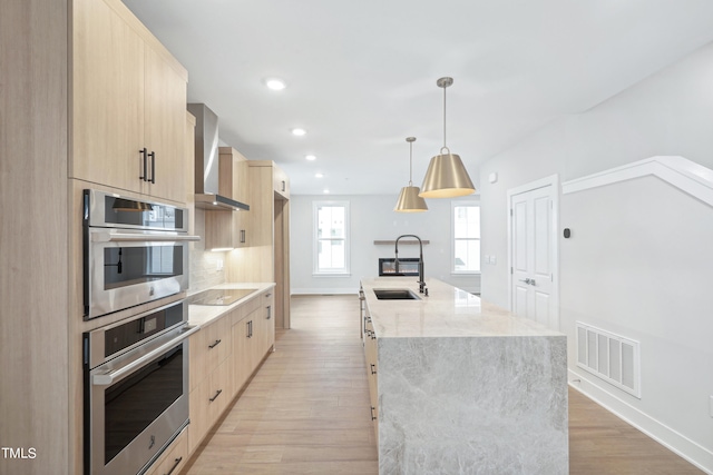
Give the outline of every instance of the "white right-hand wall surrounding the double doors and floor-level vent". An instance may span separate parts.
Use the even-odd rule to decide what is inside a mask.
[[[713,168],[713,44],[611,100],[566,117],[489,160],[480,189],[482,296],[507,301],[509,188],[560,181],[660,155]],[[570,379],[713,473],[713,208],[654,177],[560,197],[560,330]],[[636,339],[642,398],[577,369],[575,321]]]

